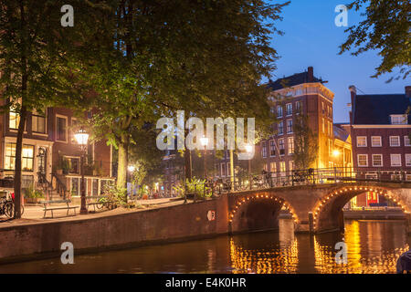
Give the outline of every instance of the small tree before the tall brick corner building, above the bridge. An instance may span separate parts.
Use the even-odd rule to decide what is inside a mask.
[[[294,164],[298,170],[306,170],[316,161],[318,155],[318,137],[308,124],[308,117],[298,115],[293,124]]]

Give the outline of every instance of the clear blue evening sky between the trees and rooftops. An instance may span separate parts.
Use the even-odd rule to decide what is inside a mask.
[[[285,2],[286,0],[284,0]],[[381,58],[377,52],[369,52],[358,57],[349,53],[338,55],[339,46],[346,39],[346,27],[337,27],[334,18],[336,5],[347,4],[349,0],[291,0],[284,8],[283,21],[276,26],[284,36],[274,36],[272,47],[279,53],[277,70],[271,79],[290,76],[314,68],[314,75],[328,80],[325,86],[334,92],[334,122],[349,121],[351,102],[348,87],[355,85],[365,94],[404,93],[409,80],[393,80],[385,83],[391,75],[371,78]],[[282,3],[276,1],[276,3]],[[358,13],[349,11],[348,26],[360,21]],[[274,75],[275,74],[275,75]],[[364,94],[359,91],[359,94]]]

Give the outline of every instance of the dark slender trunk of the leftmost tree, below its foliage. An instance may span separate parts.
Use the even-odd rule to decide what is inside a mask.
[[[20,123],[18,124],[16,139],[16,161],[15,161],[15,219],[21,218],[21,154],[23,150],[23,133],[26,124],[26,106],[22,105],[20,110]]]

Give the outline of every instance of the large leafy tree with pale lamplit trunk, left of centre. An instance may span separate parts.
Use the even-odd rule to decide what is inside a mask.
[[[79,45],[86,53],[79,57],[76,78],[96,93],[95,136],[119,150],[118,186],[125,183],[132,125],[174,117],[176,110],[269,119],[267,90],[259,83],[275,68],[269,35],[277,32],[272,22],[288,3],[112,3],[99,34],[83,37]]]

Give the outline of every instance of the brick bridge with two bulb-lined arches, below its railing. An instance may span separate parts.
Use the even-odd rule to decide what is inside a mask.
[[[228,231],[277,229],[282,207],[292,215],[296,232],[343,230],[342,207],[364,192],[397,203],[411,226],[411,183],[333,183],[228,193]]]

